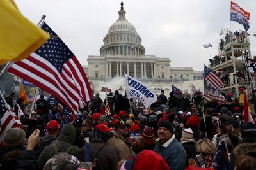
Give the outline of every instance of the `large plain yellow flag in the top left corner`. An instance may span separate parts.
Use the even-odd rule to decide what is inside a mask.
[[[0,64],[28,57],[49,38],[20,13],[13,0],[0,1],[0,23]]]

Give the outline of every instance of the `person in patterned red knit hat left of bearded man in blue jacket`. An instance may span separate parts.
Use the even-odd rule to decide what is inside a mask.
[[[156,138],[154,138],[154,129],[146,125],[143,129],[142,136],[133,143],[132,148],[137,154],[142,150],[154,150],[155,145]]]

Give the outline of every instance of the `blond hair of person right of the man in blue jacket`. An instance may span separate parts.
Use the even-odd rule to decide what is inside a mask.
[[[209,139],[200,139],[196,143],[196,152],[198,153],[207,153],[210,155],[215,155],[216,146]]]

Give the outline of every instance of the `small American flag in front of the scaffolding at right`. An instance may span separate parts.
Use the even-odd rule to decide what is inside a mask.
[[[204,78],[209,81],[216,89],[223,88],[224,82],[209,67],[204,65]]]

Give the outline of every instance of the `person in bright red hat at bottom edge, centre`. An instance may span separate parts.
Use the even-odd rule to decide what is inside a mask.
[[[140,169],[170,169],[166,161],[152,150],[143,150],[134,159],[126,160],[120,169],[140,170]]]

